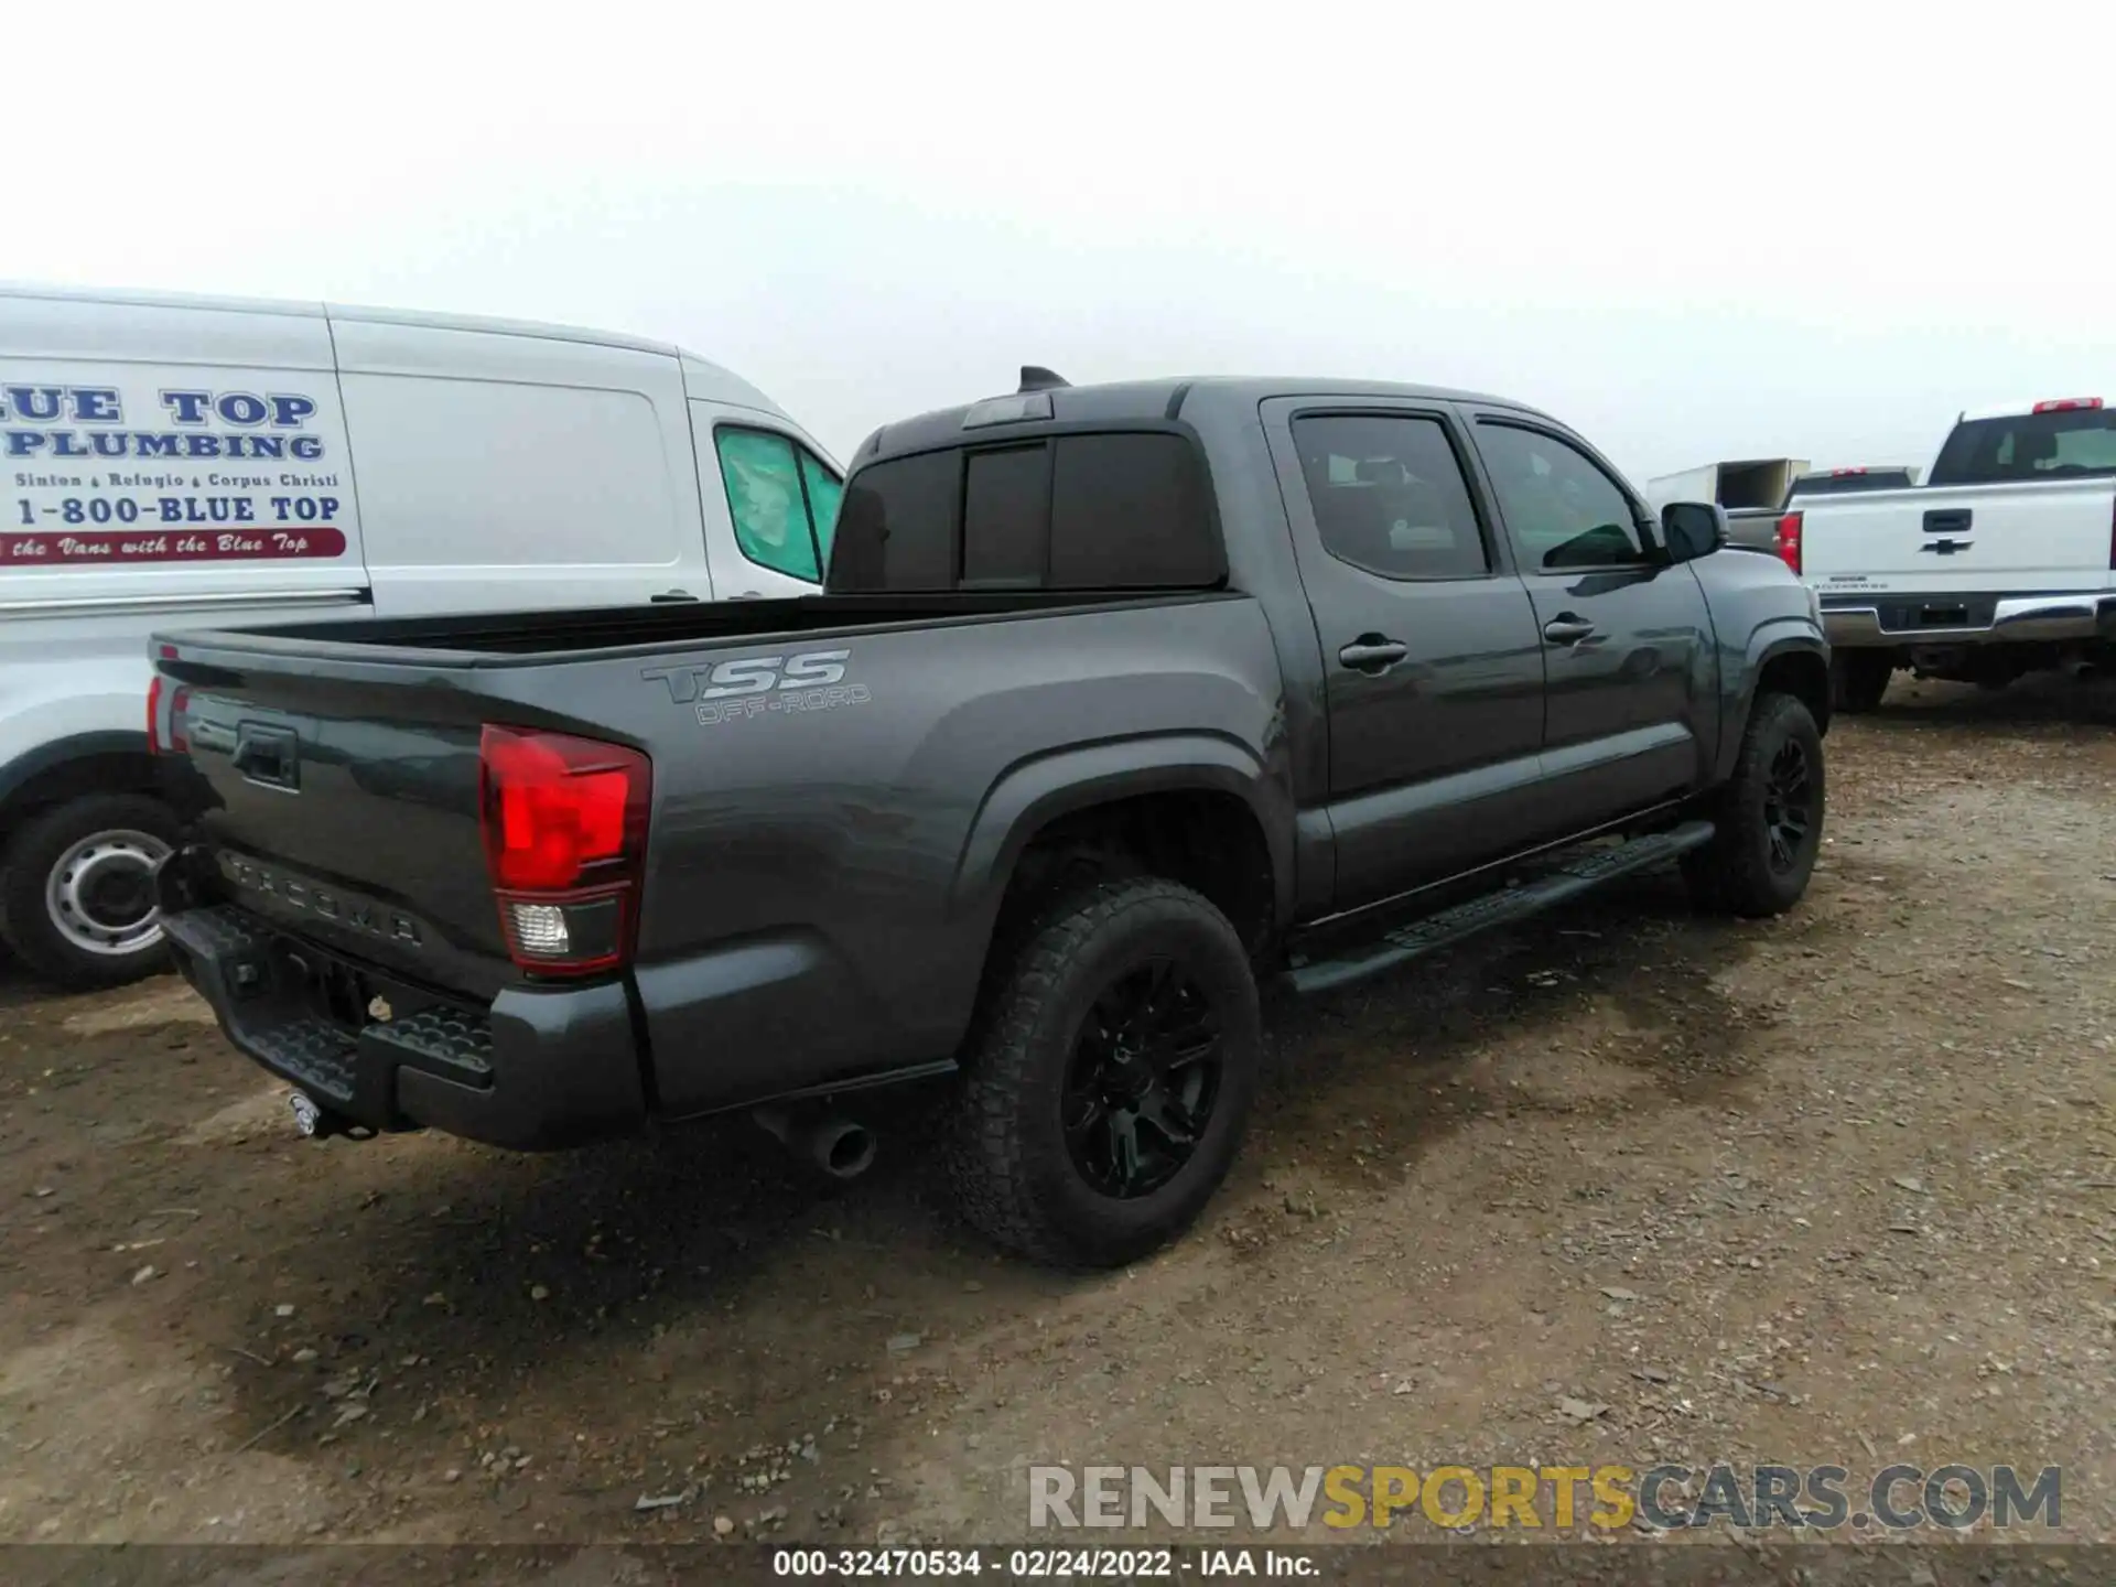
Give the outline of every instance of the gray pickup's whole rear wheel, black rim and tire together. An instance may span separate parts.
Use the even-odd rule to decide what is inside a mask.
[[[1160,878],[1050,908],[984,990],[948,1170],[992,1242],[1115,1267],[1181,1234],[1242,1145],[1263,1047],[1242,937]]]

